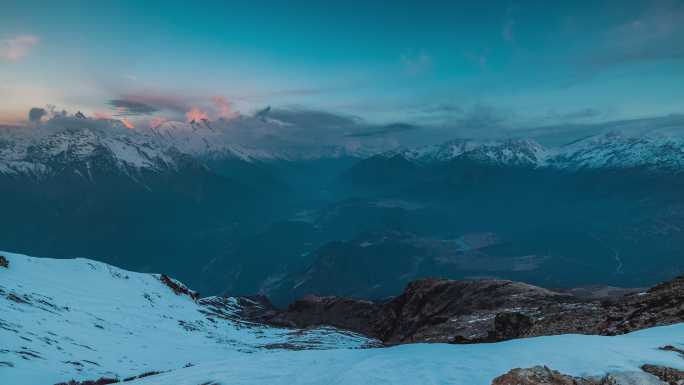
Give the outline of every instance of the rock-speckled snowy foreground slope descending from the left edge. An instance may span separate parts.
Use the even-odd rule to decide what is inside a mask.
[[[244,322],[235,299],[195,302],[152,274],[88,259],[0,255],[9,260],[0,268],[0,384],[125,378],[262,350],[374,343],[332,328]]]

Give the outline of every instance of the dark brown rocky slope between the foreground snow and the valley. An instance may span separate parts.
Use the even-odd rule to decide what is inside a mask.
[[[683,321],[684,276],[645,292],[602,299],[512,281],[424,279],[386,302],[312,295],[268,318],[276,325],[336,326],[387,344],[616,335]]]

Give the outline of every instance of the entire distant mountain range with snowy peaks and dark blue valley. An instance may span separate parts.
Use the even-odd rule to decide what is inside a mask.
[[[63,117],[5,128],[0,209],[12,220],[0,242],[280,306],[310,293],[378,299],[435,275],[634,287],[684,271],[677,136],[298,152],[231,143],[221,127]]]

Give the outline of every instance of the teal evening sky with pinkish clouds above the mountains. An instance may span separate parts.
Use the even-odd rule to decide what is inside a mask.
[[[682,114],[683,84],[684,1],[0,4],[0,123],[272,106],[495,134]]]

